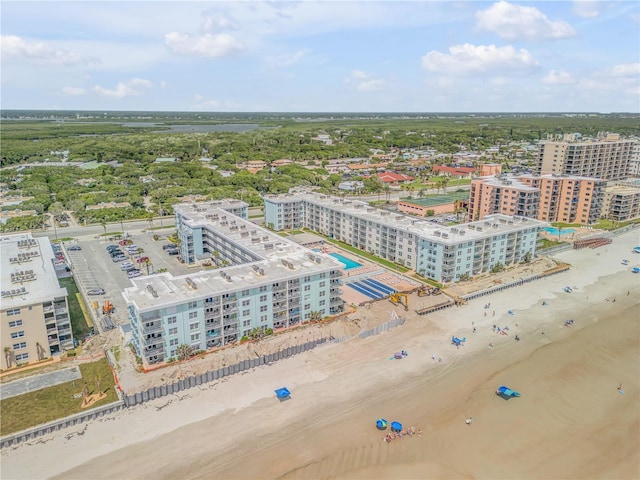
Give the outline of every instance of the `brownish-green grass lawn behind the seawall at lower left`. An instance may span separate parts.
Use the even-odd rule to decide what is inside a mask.
[[[79,368],[82,374],[80,380],[2,400],[0,402],[1,434],[8,435],[74,413],[80,413],[83,411],[82,398],[74,398],[73,396],[82,393],[85,383],[89,394],[98,393],[97,378],[100,379],[100,390],[107,396],[94,403],[92,407],[118,400],[113,374],[105,358],[97,362],[79,365]]]

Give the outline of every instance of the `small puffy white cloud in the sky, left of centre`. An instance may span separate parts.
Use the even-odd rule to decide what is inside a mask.
[[[218,58],[242,52],[245,46],[228,33],[194,36],[171,32],[164,36],[165,44],[179,55]]]

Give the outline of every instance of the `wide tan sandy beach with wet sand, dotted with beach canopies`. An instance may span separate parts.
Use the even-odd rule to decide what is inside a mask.
[[[621,262],[638,244],[563,252],[568,272],[4,449],[2,478],[640,478],[640,275]],[[387,443],[380,417],[422,436]]]

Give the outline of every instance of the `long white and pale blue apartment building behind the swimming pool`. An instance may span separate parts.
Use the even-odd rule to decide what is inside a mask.
[[[274,230],[306,227],[440,282],[533,257],[538,230],[548,225],[494,214],[446,227],[328,195],[272,195],[264,205],[265,221]]]

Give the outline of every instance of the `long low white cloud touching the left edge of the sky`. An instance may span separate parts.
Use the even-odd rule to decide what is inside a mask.
[[[26,60],[36,65],[71,66],[91,63],[79,53],[56,49],[41,41],[28,41],[15,35],[0,36],[2,55]]]

